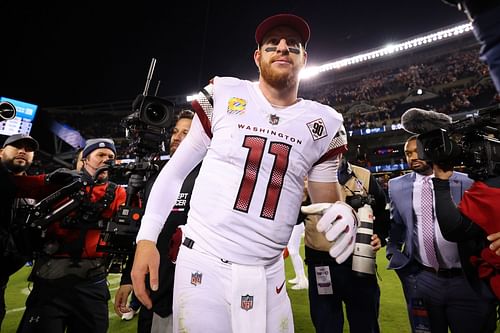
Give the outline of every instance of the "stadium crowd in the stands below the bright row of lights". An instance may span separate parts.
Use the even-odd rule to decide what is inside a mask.
[[[307,98],[333,106],[347,129],[387,126],[414,105],[446,114],[500,102],[478,48],[403,68],[368,73],[306,91]],[[421,89],[421,91],[418,91]],[[418,94],[421,95],[418,95]],[[413,96],[412,99],[408,99]]]

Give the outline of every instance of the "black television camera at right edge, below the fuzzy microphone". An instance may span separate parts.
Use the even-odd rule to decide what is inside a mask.
[[[480,109],[471,116],[419,134],[418,155],[443,169],[463,167],[474,180],[499,176],[499,109],[498,105]]]

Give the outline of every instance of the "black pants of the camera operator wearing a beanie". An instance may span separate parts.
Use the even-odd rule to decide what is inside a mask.
[[[106,333],[109,326],[105,279],[72,285],[33,284],[18,333]]]

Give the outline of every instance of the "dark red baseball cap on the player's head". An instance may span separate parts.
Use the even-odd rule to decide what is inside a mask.
[[[257,30],[255,30],[255,41],[257,44],[261,45],[264,36],[269,32],[269,30],[278,26],[287,26],[297,31],[302,38],[304,47],[311,36],[309,25],[303,18],[293,14],[278,14],[266,18],[259,24]]]

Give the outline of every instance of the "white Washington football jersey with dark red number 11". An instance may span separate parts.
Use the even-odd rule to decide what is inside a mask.
[[[276,260],[297,222],[304,177],[346,150],[342,116],[309,100],[275,109],[257,83],[227,77],[215,78],[193,106],[211,143],[186,236],[231,262]]]

